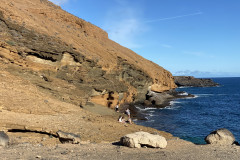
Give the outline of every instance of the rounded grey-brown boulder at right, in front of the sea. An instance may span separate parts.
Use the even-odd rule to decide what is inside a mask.
[[[235,137],[229,130],[221,128],[210,133],[205,141],[208,144],[231,145],[235,142]]]

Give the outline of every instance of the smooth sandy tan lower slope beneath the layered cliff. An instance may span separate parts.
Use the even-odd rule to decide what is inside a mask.
[[[48,96],[30,81],[7,71],[9,65],[0,63],[0,131],[8,132],[10,144],[59,144],[56,137],[59,130],[78,134],[82,141],[90,142],[118,141],[121,136],[139,130],[171,138],[171,134],[152,128],[119,123],[117,113],[106,107],[92,107],[102,112],[91,113]]]

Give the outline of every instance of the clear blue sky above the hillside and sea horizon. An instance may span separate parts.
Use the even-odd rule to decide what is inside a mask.
[[[240,77],[240,0],[51,0],[173,73]]]

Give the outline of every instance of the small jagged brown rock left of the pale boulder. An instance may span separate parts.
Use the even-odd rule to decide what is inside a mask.
[[[78,144],[81,141],[80,136],[73,133],[67,133],[59,130],[57,135],[62,143],[71,142],[73,144]]]

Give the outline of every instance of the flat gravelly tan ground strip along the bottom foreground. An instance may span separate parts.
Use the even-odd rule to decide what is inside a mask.
[[[2,160],[11,159],[49,159],[49,160],[103,160],[103,159],[186,159],[186,160],[237,160],[240,157],[240,147],[195,145],[180,139],[168,140],[166,149],[128,148],[118,144],[58,144],[43,146],[40,144],[13,144],[0,148]]]

